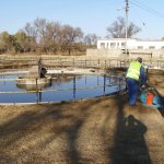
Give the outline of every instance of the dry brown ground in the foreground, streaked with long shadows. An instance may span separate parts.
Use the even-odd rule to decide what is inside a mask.
[[[163,72],[149,80],[162,93]],[[0,106],[0,163],[164,164],[164,119],[124,94]]]

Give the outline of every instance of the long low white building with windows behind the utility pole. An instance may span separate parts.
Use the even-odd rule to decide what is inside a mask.
[[[106,38],[97,40],[97,49],[125,49],[125,38]],[[163,49],[163,40],[127,39],[127,49]]]

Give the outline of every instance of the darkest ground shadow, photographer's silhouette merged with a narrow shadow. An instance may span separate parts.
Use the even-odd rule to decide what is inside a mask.
[[[147,127],[134,116],[124,116],[127,99],[117,99],[118,114],[115,131],[115,142],[110,150],[113,164],[151,164],[149,150],[144,140]],[[131,108],[134,109],[134,108]]]

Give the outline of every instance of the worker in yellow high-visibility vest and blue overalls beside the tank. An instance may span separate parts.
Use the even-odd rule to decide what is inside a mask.
[[[136,61],[132,61],[130,63],[126,79],[129,104],[131,106],[134,106],[138,96],[139,85],[144,85],[147,83],[145,71],[142,67],[142,58],[138,57]]]

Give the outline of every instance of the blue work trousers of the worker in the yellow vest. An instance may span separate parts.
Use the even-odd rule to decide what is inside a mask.
[[[127,79],[127,90],[129,96],[129,104],[134,105],[138,96],[139,82],[134,79]]]

